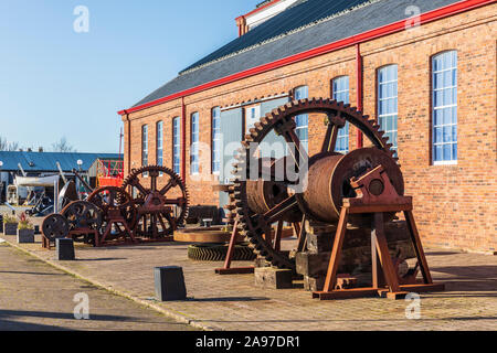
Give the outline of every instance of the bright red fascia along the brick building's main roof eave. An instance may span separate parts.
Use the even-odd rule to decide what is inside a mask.
[[[427,22],[432,22],[432,21],[436,21],[436,20],[446,18],[448,15],[454,15],[454,14],[457,14],[457,13],[461,13],[464,11],[479,8],[479,7],[483,7],[483,6],[493,3],[493,2],[496,2],[496,0],[465,0],[465,1],[457,2],[457,3],[453,3],[451,6],[421,14],[420,15],[420,25],[427,23]],[[287,56],[287,57],[277,60],[272,63],[267,63],[267,64],[264,64],[264,65],[261,65],[257,67],[253,67],[253,68],[243,71],[243,72],[233,74],[231,76],[219,78],[219,79],[205,83],[205,84],[197,86],[197,87],[192,87],[192,88],[189,88],[189,89],[186,89],[182,92],[178,92],[170,96],[167,96],[167,97],[154,100],[154,101],[149,101],[149,103],[146,103],[146,104],[137,106],[137,107],[133,107],[129,109],[118,111],[118,114],[124,115],[124,114],[130,114],[130,113],[135,113],[138,110],[142,110],[142,109],[146,109],[146,108],[149,108],[149,107],[152,107],[152,106],[166,103],[166,101],[170,101],[170,100],[173,100],[177,98],[181,98],[181,97],[194,94],[194,93],[199,93],[199,92],[202,92],[202,90],[205,90],[209,88],[222,86],[222,85],[225,85],[225,84],[229,84],[229,83],[242,79],[242,78],[262,74],[262,73],[275,69],[275,68],[279,68],[279,67],[289,65],[289,64],[298,63],[304,60],[308,60],[308,58],[319,56],[322,54],[328,54],[330,52],[334,52],[336,50],[340,50],[340,49],[343,49],[343,47],[347,47],[350,45],[363,43],[363,42],[367,42],[367,41],[370,41],[370,40],[373,40],[373,39],[377,39],[380,36],[400,32],[400,31],[405,30],[405,21],[406,20],[409,20],[409,19],[398,21],[398,22],[394,22],[394,23],[391,23],[391,24],[388,24],[384,26],[380,26],[378,29],[374,29],[374,30],[371,30],[368,32],[363,32],[363,33],[360,33],[357,35],[352,35],[350,38],[347,38],[347,39],[343,39],[343,40],[340,40],[340,41],[337,41],[334,43],[329,43],[329,44],[326,44],[326,45],[322,45],[319,47],[315,47],[315,49],[311,49],[309,51],[306,51],[306,52],[303,52],[299,54]]]

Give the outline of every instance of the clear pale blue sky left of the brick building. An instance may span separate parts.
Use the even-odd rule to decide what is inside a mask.
[[[237,35],[262,0],[0,0],[0,136],[117,152],[117,110]],[[89,32],[76,33],[77,6]]]

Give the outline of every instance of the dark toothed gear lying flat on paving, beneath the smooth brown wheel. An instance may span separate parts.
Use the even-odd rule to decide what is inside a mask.
[[[188,247],[188,258],[197,261],[223,261],[226,258],[225,244],[194,244]],[[247,243],[235,245],[233,260],[251,261],[255,254]]]

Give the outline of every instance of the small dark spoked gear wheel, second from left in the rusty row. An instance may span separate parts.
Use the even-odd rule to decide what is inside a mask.
[[[67,220],[70,232],[74,229],[94,229],[101,232],[102,212],[87,201],[74,201],[66,205],[61,214]],[[81,240],[76,238],[75,240]],[[88,240],[85,237],[85,242]]]

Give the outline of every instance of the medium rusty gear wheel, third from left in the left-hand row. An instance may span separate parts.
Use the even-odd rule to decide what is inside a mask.
[[[102,227],[104,231],[110,222],[115,218],[115,213],[120,215],[128,227],[131,227],[136,222],[137,208],[131,196],[123,188],[117,186],[104,186],[93,191],[88,199],[88,202],[95,204],[102,211]],[[124,236],[125,232],[115,224],[117,227],[117,235],[115,237]]]

